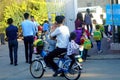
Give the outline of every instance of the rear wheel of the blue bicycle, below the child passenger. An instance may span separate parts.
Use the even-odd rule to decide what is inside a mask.
[[[71,63],[71,61],[67,60],[67,61],[65,61],[64,65],[63,65],[63,69],[65,70],[64,76],[67,80],[77,80],[80,78],[80,75],[81,75],[80,66],[77,63],[74,63],[72,65],[72,68],[70,70],[68,70],[70,63]]]

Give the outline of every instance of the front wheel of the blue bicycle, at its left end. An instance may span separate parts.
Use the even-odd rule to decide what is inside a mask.
[[[44,74],[43,64],[39,60],[34,60],[30,64],[30,73],[34,78],[41,78]]]

